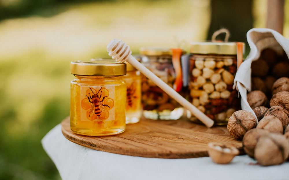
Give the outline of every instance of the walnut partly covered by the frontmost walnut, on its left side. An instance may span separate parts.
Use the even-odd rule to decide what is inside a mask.
[[[242,145],[245,153],[248,156],[254,158],[255,146],[259,138],[268,133],[270,132],[265,129],[256,129],[256,128],[247,131],[242,140]]]

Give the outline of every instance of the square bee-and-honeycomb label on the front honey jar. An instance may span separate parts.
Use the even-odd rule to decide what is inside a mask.
[[[81,120],[114,120],[114,86],[81,86]]]

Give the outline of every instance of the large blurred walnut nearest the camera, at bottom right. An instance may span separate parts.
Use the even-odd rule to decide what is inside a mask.
[[[289,156],[289,142],[281,134],[261,136],[255,146],[254,156],[262,166],[282,164]]]

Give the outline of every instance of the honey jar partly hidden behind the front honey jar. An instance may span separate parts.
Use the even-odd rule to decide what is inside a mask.
[[[141,76],[140,72],[131,64],[127,63],[127,74],[123,79],[127,83],[126,101],[126,124],[134,124],[140,121],[142,116],[141,107]]]

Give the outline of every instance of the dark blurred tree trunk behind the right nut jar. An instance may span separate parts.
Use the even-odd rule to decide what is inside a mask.
[[[211,25],[207,40],[212,40],[215,31],[226,28],[230,32],[229,41],[247,42],[247,31],[253,28],[252,0],[212,0]],[[217,40],[224,40],[220,34]]]

